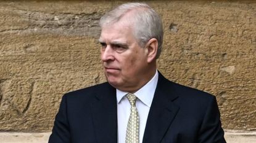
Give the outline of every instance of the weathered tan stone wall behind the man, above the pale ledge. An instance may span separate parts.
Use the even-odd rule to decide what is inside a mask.
[[[62,95],[105,81],[104,12],[123,1],[0,2],[0,131],[50,131]],[[225,129],[256,129],[256,2],[149,1],[163,18],[159,71],[217,96]]]

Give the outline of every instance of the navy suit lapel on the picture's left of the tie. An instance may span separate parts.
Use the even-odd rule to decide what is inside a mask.
[[[97,142],[117,142],[116,91],[106,83],[91,105]]]

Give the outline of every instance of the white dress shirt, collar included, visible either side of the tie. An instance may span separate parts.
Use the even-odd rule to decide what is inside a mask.
[[[139,142],[142,143],[144,130],[147,123],[147,115],[157,87],[159,74],[156,71],[154,77],[146,83],[134,95],[138,98],[136,107],[139,112]],[[126,98],[126,92],[117,89],[117,122],[118,122],[118,143],[125,143],[126,127],[130,117],[131,104]]]

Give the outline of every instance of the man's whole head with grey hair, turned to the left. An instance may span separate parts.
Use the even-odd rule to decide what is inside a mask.
[[[108,82],[122,91],[139,90],[155,74],[163,39],[159,15],[147,4],[128,3],[105,14],[100,26]]]

